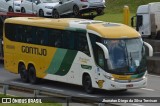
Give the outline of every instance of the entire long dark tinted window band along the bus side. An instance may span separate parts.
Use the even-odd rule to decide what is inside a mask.
[[[5,24],[9,40],[78,50],[90,56],[85,32],[41,28],[27,25]]]

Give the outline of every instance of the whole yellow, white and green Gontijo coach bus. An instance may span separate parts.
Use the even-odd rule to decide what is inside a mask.
[[[5,20],[4,66],[24,82],[39,78],[124,90],[147,84],[145,47],[129,26],[85,19],[19,17]]]

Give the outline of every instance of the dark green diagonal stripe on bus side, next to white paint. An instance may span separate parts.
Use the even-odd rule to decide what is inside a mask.
[[[59,71],[57,71],[55,74],[61,75],[61,76],[66,75],[69,72],[69,70],[73,64],[73,61],[74,61],[76,55],[77,55],[77,51],[68,50],[63,61],[62,61],[61,67],[59,68]]]

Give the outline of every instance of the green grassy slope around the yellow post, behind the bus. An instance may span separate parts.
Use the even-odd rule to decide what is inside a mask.
[[[129,6],[130,18],[136,14],[137,8],[140,5],[148,4],[150,2],[160,2],[159,0],[106,0],[105,14],[97,16],[95,20],[106,22],[124,23],[123,21],[123,7]],[[130,23],[130,22],[129,22]]]

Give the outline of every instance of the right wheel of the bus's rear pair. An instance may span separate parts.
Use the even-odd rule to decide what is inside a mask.
[[[36,77],[36,70],[35,70],[35,68],[33,66],[29,67],[28,73],[29,73],[29,81],[30,81],[30,83],[36,84],[37,81],[38,81],[38,78]]]

